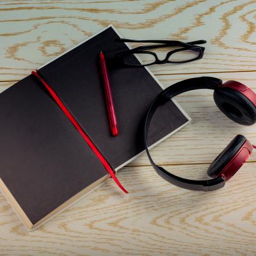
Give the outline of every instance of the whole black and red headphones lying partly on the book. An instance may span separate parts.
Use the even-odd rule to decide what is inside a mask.
[[[156,172],[175,186],[196,191],[214,191],[223,188],[252,154],[252,145],[243,135],[237,135],[227,147],[214,159],[207,170],[212,178],[208,180],[190,180],[167,172],[154,163],[148,151],[148,128],[156,109],[180,93],[198,89],[214,90],[214,101],[228,118],[242,125],[256,122],[256,94],[247,86],[237,81],[222,81],[215,77],[195,77],[175,83],[163,90],[153,100],[148,109],[144,125],[144,144],[150,163]]]

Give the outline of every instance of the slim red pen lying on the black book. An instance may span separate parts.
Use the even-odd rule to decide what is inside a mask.
[[[106,60],[102,52],[100,52],[100,70],[101,70],[102,79],[104,82],[104,93],[106,98],[106,105],[108,108],[108,119],[109,119],[110,131],[113,136],[118,136],[116,114],[115,114],[115,108],[113,104],[113,97],[111,93],[111,86],[109,83],[108,70],[106,66]]]

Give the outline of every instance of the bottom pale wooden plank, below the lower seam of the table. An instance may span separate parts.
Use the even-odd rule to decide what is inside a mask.
[[[166,166],[195,179],[205,164]],[[1,255],[255,255],[255,164],[213,193],[175,188],[152,168],[124,168],[49,223],[27,232],[0,196]],[[246,186],[244,186],[246,184]]]

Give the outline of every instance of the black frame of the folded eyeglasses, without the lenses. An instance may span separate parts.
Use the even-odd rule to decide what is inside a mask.
[[[173,40],[131,40],[131,39],[126,39],[126,38],[118,38],[116,39],[116,42],[140,42],[140,43],[154,43],[154,45],[143,45],[136,47],[134,49],[124,51],[124,52],[118,52],[115,55],[116,60],[118,60],[118,63],[122,63],[122,65],[125,65],[127,67],[145,67],[145,66],[150,66],[150,65],[155,65],[155,64],[166,64],[166,63],[187,63],[190,61],[195,61],[195,60],[200,60],[204,56],[204,47],[198,46],[196,44],[205,44],[205,40],[197,40],[193,42],[180,42],[180,41],[173,41]],[[182,48],[175,49],[173,51],[169,51],[166,54],[166,58],[164,60],[159,60],[157,57],[157,54],[152,51],[147,51],[150,49],[157,49],[157,48],[163,48],[163,47],[175,47],[175,46],[180,46]],[[184,60],[184,61],[172,61],[169,60],[170,56],[174,54],[175,52],[180,52],[180,51],[195,51],[198,52],[198,56],[196,56],[193,59],[190,60]],[[131,64],[131,63],[126,63],[125,62],[125,56],[129,54],[136,54],[136,53],[145,53],[145,54],[151,54],[154,56],[155,61],[152,63],[147,63],[147,64]]]

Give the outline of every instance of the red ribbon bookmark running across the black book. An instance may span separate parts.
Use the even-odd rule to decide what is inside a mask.
[[[52,98],[55,100],[55,102],[58,104],[58,106],[61,108],[61,110],[63,111],[63,113],[65,113],[65,115],[67,116],[67,118],[70,120],[70,122],[72,122],[72,124],[74,125],[74,127],[76,127],[77,131],[79,131],[79,133],[81,134],[81,136],[84,138],[84,140],[86,141],[86,143],[89,145],[90,148],[92,148],[93,152],[95,153],[95,155],[99,158],[100,162],[104,165],[104,167],[106,168],[106,170],[108,171],[109,175],[112,177],[113,180],[115,180],[116,184],[119,186],[120,189],[122,189],[122,191],[124,191],[125,193],[129,193],[120,183],[120,181],[117,179],[116,175],[115,175],[115,171],[112,170],[111,166],[109,165],[108,161],[106,161],[106,159],[104,158],[104,156],[102,156],[102,154],[100,153],[100,151],[98,150],[98,148],[93,144],[93,142],[90,140],[90,138],[86,135],[86,133],[83,131],[83,128],[81,127],[81,125],[78,124],[77,120],[74,118],[74,116],[70,113],[70,111],[68,111],[68,109],[66,108],[66,106],[63,104],[63,102],[61,101],[60,97],[58,97],[57,93],[54,92],[54,90],[51,88],[51,86],[49,86],[49,84],[47,82],[45,82],[45,80],[35,71],[31,72],[32,75],[36,76],[37,79],[44,84],[45,88],[47,89],[47,91],[51,94]]]

